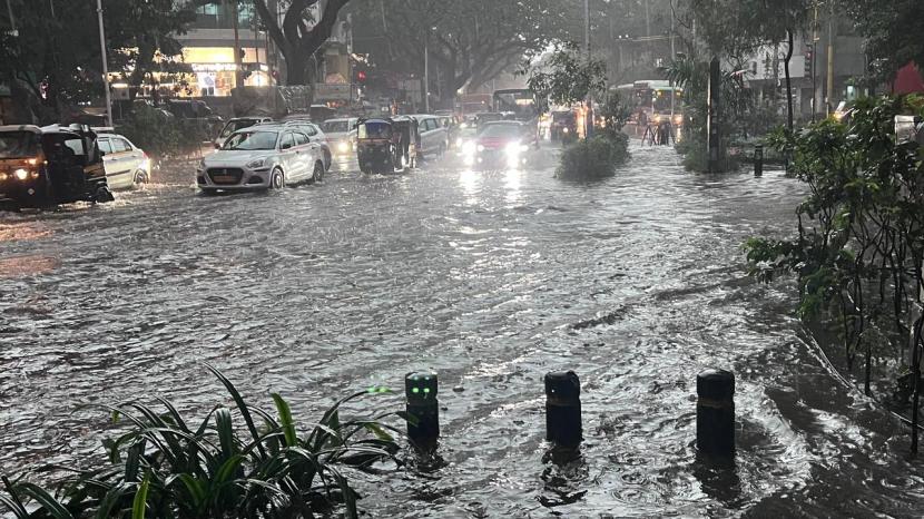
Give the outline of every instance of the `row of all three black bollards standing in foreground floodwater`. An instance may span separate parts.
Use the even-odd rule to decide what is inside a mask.
[[[545,439],[557,447],[574,449],[583,434],[581,381],[573,371],[545,374]],[[436,373],[409,373],[404,378],[407,437],[419,448],[432,449],[440,438],[440,404]],[[735,375],[725,370],[706,371],[696,378],[696,447],[700,454],[735,456]]]

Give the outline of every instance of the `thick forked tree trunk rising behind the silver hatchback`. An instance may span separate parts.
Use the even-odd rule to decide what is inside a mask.
[[[350,0],[286,0],[282,25],[266,0],[253,1],[269,37],[285,58],[286,84],[313,84],[316,79],[315,67],[311,66],[314,55],[331,38],[340,11]],[[311,9],[316,6],[323,8],[320,20],[314,20],[311,14]]]

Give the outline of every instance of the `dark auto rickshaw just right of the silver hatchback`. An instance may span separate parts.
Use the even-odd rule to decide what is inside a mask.
[[[363,173],[414,168],[419,149],[417,123],[410,117],[360,119],[356,124],[356,155]]]

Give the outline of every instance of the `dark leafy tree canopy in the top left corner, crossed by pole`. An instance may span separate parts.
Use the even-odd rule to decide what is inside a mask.
[[[108,1],[105,7],[110,70],[132,76],[136,85],[160,67],[156,55],[179,53],[174,36],[194,19],[193,7],[178,0]],[[18,35],[0,35],[0,76],[10,84],[14,104],[31,112],[23,117],[53,123],[70,106],[98,99],[102,67],[96,3],[11,0],[10,8]]]

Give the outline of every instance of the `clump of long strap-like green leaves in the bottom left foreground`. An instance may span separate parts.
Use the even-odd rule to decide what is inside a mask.
[[[281,395],[273,394],[277,412],[271,414],[247,404],[227,378],[209,369],[234,409],[219,403],[196,425],[163,399],[160,410],[139,402],[109,408],[114,420],[127,423],[104,441],[106,463],[68,477],[53,493],[3,478],[0,503],[17,519],[315,517],[336,503],[346,517],[358,517],[343,469],[391,459],[397,445],[377,423],[387,414],[342,420],[340,409],[387,391],[373,388],[342,399],[299,434]]]

